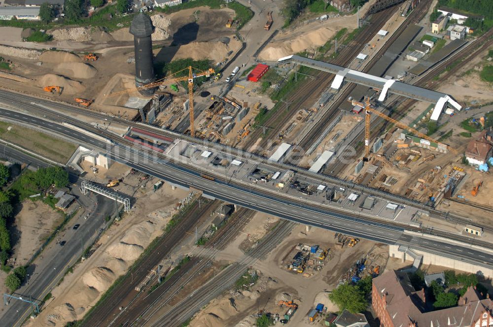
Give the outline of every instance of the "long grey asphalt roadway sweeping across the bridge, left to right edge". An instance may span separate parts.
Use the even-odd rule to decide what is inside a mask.
[[[52,124],[21,113],[0,110],[1,115],[9,115],[11,118],[12,115],[16,115],[15,119],[44,126],[51,130],[55,129],[56,132],[63,133],[66,136],[80,136],[80,133],[77,131],[72,131],[64,126]],[[106,143],[95,140],[85,134],[83,136],[84,142],[97,147],[103,145],[103,148],[106,148]],[[177,166],[174,163],[157,159],[154,155],[148,155],[140,150],[124,145],[112,145],[107,151],[107,156],[113,160],[127,164],[144,173],[170,181],[176,185],[202,190],[206,195],[214,196],[217,199],[235,203],[246,208],[355,237],[386,244],[408,245],[411,248],[422,249],[449,258],[471,262],[485,267],[493,267],[493,255],[471,246],[441,242],[424,236],[411,236],[404,234],[404,230],[401,228],[370,223],[358,217],[330,212],[312,206],[302,205],[301,203],[256,193],[255,191],[243,189],[235,185],[226,185],[219,180],[207,180],[201,178],[196,172]]]

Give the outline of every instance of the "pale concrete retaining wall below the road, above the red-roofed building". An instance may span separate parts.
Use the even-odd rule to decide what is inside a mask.
[[[404,261],[409,261],[413,262],[414,258],[411,258],[411,256],[406,256],[404,252],[400,252],[399,250],[399,245],[389,245],[388,246],[388,254],[390,258],[397,258],[401,259],[403,262]],[[438,256],[432,253],[427,253],[421,250],[416,250],[412,249],[413,252],[416,254],[422,255],[423,256],[423,264],[434,264],[434,265],[439,265],[443,267],[448,267],[451,269],[457,269],[457,270],[462,270],[474,274],[480,274],[484,275],[487,278],[492,278],[493,277],[493,269],[491,268],[486,268],[477,264],[469,263],[469,262],[464,262],[462,260],[458,259],[451,259],[451,258],[446,258],[442,256]]]

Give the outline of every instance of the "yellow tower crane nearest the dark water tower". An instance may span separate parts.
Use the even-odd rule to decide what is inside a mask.
[[[193,112],[193,80],[194,80],[194,78],[197,78],[197,77],[202,77],[202,76],[209,77],[209,76],[211,76],[211,74],[214,73],[214,69],[209,68],[206,71],[199,70],[195,73],[193,72],[192,69],[195,69],[195,68],[192,66],[188,66],[184,69],[178,70],[177,72],[171,74],[170,76],[158,79],[155,82],[142,85],[141,87],[138,87],[138,88],[111,93],[111,94],[108,94],[106,97],[113,97],[113,96],[117,96],[120,94],[132,93],[132,92],[143,90],[143,89],[152,89],[152,88],[158,87],[162,84],[169,83],[169,82],[173,83],[173,82],[181,82],[181,81],[187,81],[188,80],[188,100],[189,100],[188,108],[190,109],[190,135],[193,137],[193,136],[195,136],[194,112]],[[188,76],[175,77],[176,74],[179,74],[185,70],[188,70]],[[198,69],[195,69],[195,70],[198,70]]]

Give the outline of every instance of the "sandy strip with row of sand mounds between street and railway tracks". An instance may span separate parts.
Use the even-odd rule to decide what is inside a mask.
[[[125,167],[126,168],[126,167]],[[126,173],[122,173],[125,170]],[[113,164],[101,176],[93,179],[104,181],[108,176],[120,177],[130,169]],[[96,244],[96,251],[79,263],[73,273],[53,291],[53,300],[28,326],[64,326],[67,322],[81,319],[94,305],[113,281],[125,273],[140,256],[152,239],[161,235],[162,229],[176,212],[176,202],[188,195],[187,191],[172,190],[167,183],[156,192],[152,191],[153,179],[139,182],[136,175],[128,175],[118,190],[133,194],[138,199],[130,214],[113,224]],[[142,189],[141,185],[145,185]],[[93,247],[94,249],[94,247]]]

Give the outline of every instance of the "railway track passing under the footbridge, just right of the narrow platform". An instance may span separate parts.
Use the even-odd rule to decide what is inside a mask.
[[[430,2],[431,1],[421,1],[420,3],[418,3],[417,7],[411,12],[408,18],[390,36],[387,42],[385,42],[384,46],[369,61],[368,65],[366,65],[364,69],[362,69],[363,72],[368,72],[379,61],[379,59],[385,54],[392,43],[400,37],[400,35],[410,24],[418,23],[421,19],[423,19],[429,9]],[[302,149],[308,149],[310,144],[313,143],[313,141],[322,134],[327,125],[330,124],[330,122],[335,118],[334,113],[338,110],[339,106],[351,95],[355,87],[356,85],[354,84],[350,85],[349,88],[345,92],[343,92],[343,94],[340,95],[339,98],[332,104],[332,107],[324,113],[318,124],[314,126],[312,130],[307,133],[307,135],[300,141],[299,146]]]

